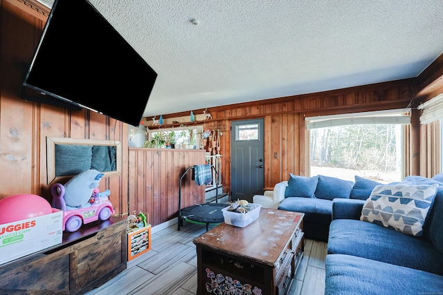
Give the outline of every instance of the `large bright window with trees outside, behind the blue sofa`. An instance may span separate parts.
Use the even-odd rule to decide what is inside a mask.
[[[403,178],[403,128],[410,110],[307,117],[310,175],[381,183]]]

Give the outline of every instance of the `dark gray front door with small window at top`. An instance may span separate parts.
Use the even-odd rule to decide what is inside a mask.
[[[232,122],[231,200],[252,202],[264,187],[264,120]]]

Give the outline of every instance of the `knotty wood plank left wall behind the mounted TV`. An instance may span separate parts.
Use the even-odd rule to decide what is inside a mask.
[[[90,111],[26,102],[21,97],[24,64],[29,64],[46,17],[27,1],[0,0],[0,198],[33,193],[51,201],[47,184],[46,137],[122,142],[121,175],[103,178],[117,213],[127,211],[128,125]],[[27,69],[26,69],[27,70]]]

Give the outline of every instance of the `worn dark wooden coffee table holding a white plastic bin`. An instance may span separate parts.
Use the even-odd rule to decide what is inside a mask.
[[[246,227],[223,222],[195,238],[197,294],[287,294],[303,255],[304,216],[261,208]]]

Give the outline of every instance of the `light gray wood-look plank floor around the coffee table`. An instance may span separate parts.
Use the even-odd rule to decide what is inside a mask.
[[[210,227],[212,228],[212,227]],[[192,242],[204,234],[206,225],[185,222],[152,234],[151,250],[128,261],[127,269],[87,295],[197,294],[197,252]],[[323,295],[325,292],[326,243],[305,240],[305,253],[290,295]]]

